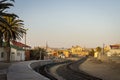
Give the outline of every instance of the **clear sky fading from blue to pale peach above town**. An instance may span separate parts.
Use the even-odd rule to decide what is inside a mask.
[[[10,11],[24,20],[32,47],[120,44],[120,0],[15,0]]]

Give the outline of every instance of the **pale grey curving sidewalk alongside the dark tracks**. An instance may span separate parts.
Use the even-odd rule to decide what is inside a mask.
[[[49,80],[43,75],[35,72],[32,68],[48,64],[48,60],[34,60],[14,63],[9,67],[7,80]]]

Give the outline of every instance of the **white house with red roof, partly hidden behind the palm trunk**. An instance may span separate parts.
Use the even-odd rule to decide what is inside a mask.
[[[25,60],[25,49],[24,47],[30,47],[23,43],[12,41],[11,42],[11,61],[24,61]],[[7,53],[4,47],[0,48],[0,61],[6,61]]]

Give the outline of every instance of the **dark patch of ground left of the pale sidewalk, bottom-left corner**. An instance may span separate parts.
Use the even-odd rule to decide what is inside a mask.
[[[7,69],[11,63],[0,62],[0,80],[7,80]]]

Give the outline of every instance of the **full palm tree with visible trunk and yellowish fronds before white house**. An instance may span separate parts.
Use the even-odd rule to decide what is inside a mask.
[[[3,38],[5,40],[5,46],[7,51],[7,61],[10,61],[10,41],[11,40],[20,40],[23,35],[26,33],[26,30],[23,27],[23,21],[17,17],[5,16],[4,19],[8,24],[3,24],[5,27],[3,29]]]

